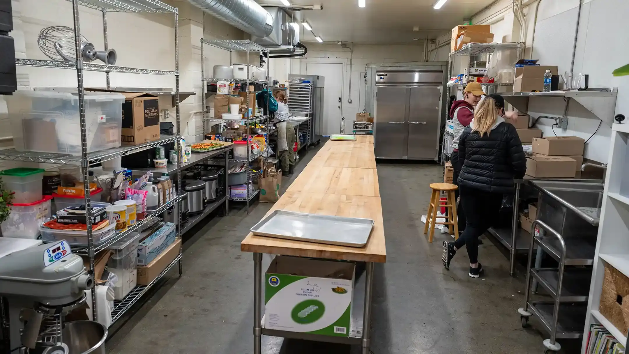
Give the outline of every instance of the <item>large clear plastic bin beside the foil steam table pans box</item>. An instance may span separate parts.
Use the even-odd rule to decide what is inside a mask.
[[[4,96],[18,151],[81,155],[77,93],[16,91]],[[125,96],[85,92],[87,152],[120,147]]]

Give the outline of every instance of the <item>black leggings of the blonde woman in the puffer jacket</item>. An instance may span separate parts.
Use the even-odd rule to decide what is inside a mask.
[[[470,263],[478,263],[478,238],[481,236],[496,218],[500,211],[503,195],[479,191],[470,187],[459,185],[461,204],[465,211],[465,230],[458,240],[454,241],[457,250],[465,245],[467,257]]]

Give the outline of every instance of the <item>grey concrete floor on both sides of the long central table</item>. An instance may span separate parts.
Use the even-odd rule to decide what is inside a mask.
[[[298,165],[303,169],[314,152]],[[484,277],[468,277],[461,250],[450,270],[441,262],[441,241],[429,244],[421,215],[442,168],[426,164],[379,164],[387,237],[387,263],[376,265],[372,318],[373,354],[542,353],[548,338],[532,319],[523,329],[523,269],[509,276],[504,250],[483,236],[479,259]],[[292,180],[292,179],[291,179]],[[284,179],[284,188],[289,179]],[[269,210],[257,203],[246,214],[234,206],[211,219],[184,243],[184,273],[170,278],[108,341],[109,354],[245,354],[253,350],[253,261],[240,241]],[[269,257],[265,257],[265,263]],[[264,264],[263,264],[264,267]],[[175,267],[176,268],[176,267]],[[263,337],[264,354],[359,353],[357,348]],[[580,341],[579,341],[580,343]],[[576,353],[565,349],[565,353]]]

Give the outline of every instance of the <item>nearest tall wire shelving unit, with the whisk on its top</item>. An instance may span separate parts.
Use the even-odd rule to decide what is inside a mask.
[[[94,64],[89,62],[83,62],[81,55],[77,55],[76,62],[63,62],[59,60],[35,60],[35,59],[16,59],[16,65],[24,65],[30,67],[46,67],[53,69],[74,69],[77,72],[77,91],[78,91],[78,99],[79,99],[79,118],[81,123],[81,156],[73,156],[73,155],[64,155],[59,153],[41,153],[41,152],[18,152],[15,149],[8,150],[0,150],[0,160],[13,160],[13,161],[24,161],[24,162],[38,162],[38,163],[56,163],[56,164],[73,164],[80,165],[81,172],[84,180],[84,190],[89,191],[89,175],[88,169],[89,167],[95,165],[96,163],[101,163],[107,160],[111,160],[116,157],[122,157],[126,155],[130,155],[131,153],[141,152],[143,150],[147,150],[149,148],[158,147],[160,145],[164,145],[166,143],[172,143],[175,141],[179,141],[181,139],[180,136],[180,91],[179,91],[179,10],[174,8],[168,4],[162,3],[159,0],[68,0],[72,3],[72,13],[74,20],[74,38],[75,38],[75,47],[77,53],[81,53],[79,49],[81,47],[81,26],[79,21],[79,6],[86,6],[87,8],[96,9],[102,12],[103,14],[103,34],[104,34],[104,49],[108,49],[108,31],[107,31],[107,14],[109,12],[125,12],[125,13],[168,13],[174,15],[174,35],[175,35],[175,70],[153,70],[153,69],[138,69],[132,67],[121,67],[114,65],[104,65],[104,64]],[[111,89],[111,80],[109,73],[111,72],[122,72],[128,74],[154,74],[154,75],[173,75],[175,77],[175,90],[172,92],[174,97],[174,106],[176,110],[176,131],[175,135],[162,135],[160,136],[160,140],[151,141],[150,143],[145,143],[142,145],[135,146],[121,146],[120,148],[111,148],[106,150],[101,150],[99,152],[87,153],[87,130],[86,130],[86,111],[85,111],[85,94],[84,94],[84,81],[83,81],[83,72],[87,71],[97,71],[104,72],[106,75],[107,89]],[[177,146],[177,152],[179,152],[179,144],[175,144]],[[181,172],[179,166],[179,159],[177,159],[177,180],[181,180]],[[181,187],[181,185],[178,186]],[[180,191],[181,192],[181,191]],[[177,197],[172,201],[164,204],[164,206],[160,207],[157,211],[152,214],[149,214],[145,219],[139,221],[134,226],[130,227],[124,233],[120,233],[116,236],[113,236],[111,240],[106,241],[98,246],[94,246],[94,240],[92,237],[92,224],[89,221],[90,218],[87,218],[87,246],[79,247],[73,246],[72,248],[75,250],[75,253],[81,255],[87,255],[89,257],[89,272],[94,274],[94,257],[96,252],[107,248],[109,245],[114,243],[117,240],[129,235],[129,233],[134,230],[138,230],[142,228],[144,224],[149,223],[153,220],[153,218],[157,217],[160,213],[163,213],[169,207],[174,206],[174,204],[178,203],[179,207],[177,210],[181,210],[181,197]],[[91,199],[89,192],[85,193],[85,204],[86,209],[89,210],[91,207]],[[89,214],[89,212],[88,212]],[[181,215],[177,216],[179,218],[179,224],[176,228],[176,237],[181,238]],[[131,308],[133,304],[135,304],[143,294],[147,292],[147,290],[155,283],[159,281],[159,279],[172,268],[175,263],[179,263],[179,276],[182,274],[182,264],[181,264],[182,253],[179,252],[179,255],[170,263],[169,267],[165,268],[164,272],[157,277],[150,285],[138,285],[133,289],[122,301],[116,301],[114,303],[114,309],[112,311],[112,324],[116,322],[128,309]],[[96,302],[96,292],[92,291],[92,315],[96,318],[97,314],[97,302]]]

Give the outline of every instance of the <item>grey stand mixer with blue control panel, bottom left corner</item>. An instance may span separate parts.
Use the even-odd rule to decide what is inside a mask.
[[[84,304],[85,290],[93,285],[94,278],[67,241],[26,248],[0,258],[0,296],[8,301],[11,353],[76,353],[63,341],[62,319]],[[104,328],[104,338],[106,333]],[[104,349],[81,352],[104,353]]]

